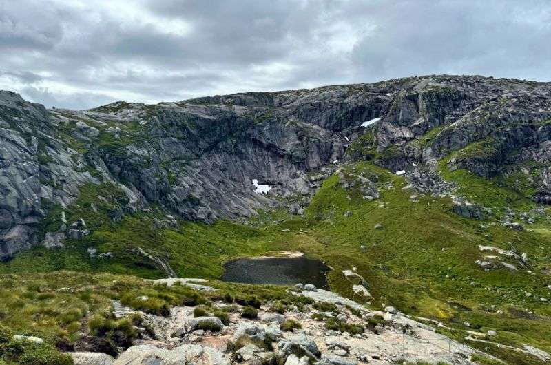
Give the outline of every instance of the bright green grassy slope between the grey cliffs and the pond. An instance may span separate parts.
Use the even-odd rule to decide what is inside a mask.
[[[269,211],[248,225],[178,222],[176,227],[158,229],[156,220],[163,215],[155,210],[126,215],[115,223],[110,212],[125,204],[124,197],[114,187],[91,185],[83,187],[81,198],[65,209],[68,222],[85,219],[90,236],[65,242],[63,250],[37,247],[21,253],[1,264],[0,272],[68,269],[163,276],[154,262],[135,253],[134,248],[141,247],[168,260],[182,277],[219,278],[222,263],[231,258],[300,250],[322,258],[334,269],[329,273],[333,290],[360,302],[368,299],[376,309],[393,305],[410,315],[442,321],[452,329],[441,331],[459,340],[468,335],[466,329],[492,329],[498,331],[498,342],[519,348],[530,344],[551,353],[550,304],[536,299],[543,296],[551,301],[546,288],[551,284],[550,225],[539,220],[526,231],[502,227],[497,217],[503,207],[520,213],[533,209],[534,202],[497,180],[477,178],[463,170],[450,172],[445,163],[441,172],[469,201],[490,207],[494,213],[485,221],[471,220],[451,211],[450,198],[421,195],[418,202],[411,201],[410,196],[417,193],[405,189],[403,176],[368,163],[344,167],[341,177],[335,174],[326,180],[304,217]],[[357,187],[342,187],[340,180],[353,181],[358,175],[377,176],[380,199],[364,200]],[[98,213],[88,208],[92,203]],[[346,211],[351,214],[345,215]],[[59,207],[52,209],[45,231],[59,225],[60,214]],[[377,224],[382,228],[375,229]],[[530,272],[482,270],[475,261],[489,253],[479,251],[479,244],[526,252]],[[114,258],[92,258],[89,247],[98,253],[111,252]],[[353,293],[352,283],[342,274],[352,267],[366,279],[373,298]],[[471,327],[466,328],[464,322]],[[493,354],[511,363],[536,361],[492,345],[468,343],[489,346]]]

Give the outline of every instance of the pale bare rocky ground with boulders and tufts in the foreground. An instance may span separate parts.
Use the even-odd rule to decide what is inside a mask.
[[[194,289],[214,290],[205,285],[206,280],[155,281],[169,285],[179,281]],[[227,324],[208,314],[197,317],[197,307],[175,306],[167,317],[160,317],[114,302],[116,317],[135,313],[143,317],[141,340],[116,359],[98,352],[70,355],[76,365],[353,365],[419,361],[474,364],[472,355],[481,355],[480,351],[435,332],[435,327],[397,313],[391,306],[385,312],[373,311],[330,291],[312,286],[306,289],[309,290],[296,295],[311,298],[313,306],[300,311],[295,307],[284,314],[274,312],[266,303],[258,309],[257,316],[245,318],[242,306],[213,302],[214,308],[229,313]],[[327,318],[345,322],[354,333],[328,329]]]

